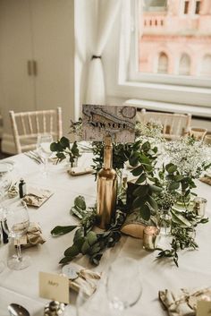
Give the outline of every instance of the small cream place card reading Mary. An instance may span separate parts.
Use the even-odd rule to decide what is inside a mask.
[[[39,296],[60,303],[69,303],[69,279],[52,273],[39,272]]]

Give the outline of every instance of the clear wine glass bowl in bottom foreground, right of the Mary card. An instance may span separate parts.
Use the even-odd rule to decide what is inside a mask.
[[[121,314],[135,305],[142,294],[139,263],[131,258],[120,258],[108,269],[106,295],[110,308]]]

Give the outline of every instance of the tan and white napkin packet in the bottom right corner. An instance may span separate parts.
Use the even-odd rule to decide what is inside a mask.
[[[211,301],[211,287],[159,291],[169,316],[195,316],[198,301]]]

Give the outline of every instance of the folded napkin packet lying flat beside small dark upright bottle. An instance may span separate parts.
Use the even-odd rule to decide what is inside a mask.
[[[38,189],[29,187],[28,193],[22,199],[29,206],[40,207],[45,201],[51,197],[53,192],[46,189]]]

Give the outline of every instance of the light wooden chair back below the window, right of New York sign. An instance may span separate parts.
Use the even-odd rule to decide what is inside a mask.
[[[165,139],[177,140],[190,131],[191,115],[150,112],[143,108],[137,113],[137,121],[162,124]]]

